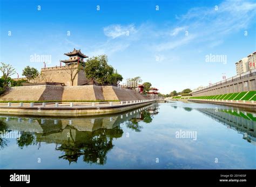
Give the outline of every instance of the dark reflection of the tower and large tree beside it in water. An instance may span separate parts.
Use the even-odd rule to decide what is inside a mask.
[[[86,136],[84,136],[83,142],[76,142],[70,136],[69,141],[56,148],[65,153],[59,157],[60,159],[68,160],[69,163],[77,162],[78,157],[83,155],[84,162],[105,164],[106,154],[113,148],[113,138],[120,138],[123,135],[123,130],[119,127],[101,128],[97,131],[84,133]]]

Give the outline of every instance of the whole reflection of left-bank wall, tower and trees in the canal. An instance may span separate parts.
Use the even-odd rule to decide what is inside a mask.
[[[61,159],[77,162],[83,156],[87,163],[104,164],[106,155],[113,148],[112,140],[120,138],[123,130],[120,124],[131,119],[144,118],[143,112],[149,109],[144,106],[140,109],[114,114],[105,117],[93,118],[28,118],[28,117],[0,117],[1,127],[6,131],[21,132],[21,139],[17,145],[38,145],[42,143],[56,143],[56,150],[62,151]]]

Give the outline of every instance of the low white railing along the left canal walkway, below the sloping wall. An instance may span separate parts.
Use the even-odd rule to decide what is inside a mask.
[[[4,107],[104,107],[104,106],[125,106],[125,105],[136,105],[142,103],[149,103],[156,101],[156,99],[144,99],[144,100],[130,100],[130,101],[120,101],[120,102],[56,102],[56,103],[0,103],[0,106]]]

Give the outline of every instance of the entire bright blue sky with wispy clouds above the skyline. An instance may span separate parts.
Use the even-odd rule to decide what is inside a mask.
[[[0,61],[20,76],[25,66],[43,67],[31,55],[59,66],[75,47],[106,54],[124,80],[140,76],[170,93],[234,76],[234,63],[256,49],[255,1],[1,0],[0,10]],[[210,54],[227,61],[206,62]]]

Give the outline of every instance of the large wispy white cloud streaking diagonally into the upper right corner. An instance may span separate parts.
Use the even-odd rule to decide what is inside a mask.
[[[218,10],[212,7],[192,8],[185,15],[176,15],[178,23],[175,27],[156,31],[157,40],[152,50],[167,51],[191,44],[203,44],[205,47],[216,47],[222,44],[225,36],[233,32],[246,30],[255,19],[256,3],[250,1],[224,1]],[[184,31],[184,34],[179,34]],[[188,31],[189,35],[185,35]],[[168,35],[170,37],[168,37]],[[174,38],[174,36],[176,36]]]

